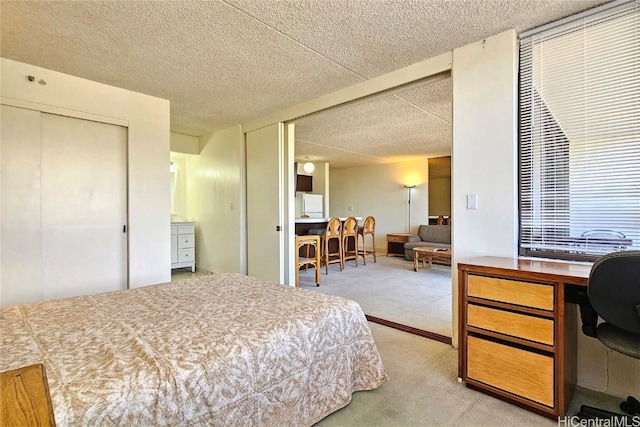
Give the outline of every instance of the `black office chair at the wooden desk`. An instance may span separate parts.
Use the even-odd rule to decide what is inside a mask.
[[[640,359],[640,251],[613,252],[594,262],[587,294],[580,301],[582,332],[614,351]],[[598,317],[604,322],[598,324]],[[640,402],[629,396],[620,409],[640,414]],[[624,417],[586,405],[580,407],[578,416]]]

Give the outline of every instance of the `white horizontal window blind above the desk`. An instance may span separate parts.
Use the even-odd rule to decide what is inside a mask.
[[[640,249],[640,1],[520,42],[520,253]]]

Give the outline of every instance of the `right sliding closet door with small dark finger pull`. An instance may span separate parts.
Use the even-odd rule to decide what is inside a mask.
[[[44,299],[127,287],[127,130],[42,114]]]

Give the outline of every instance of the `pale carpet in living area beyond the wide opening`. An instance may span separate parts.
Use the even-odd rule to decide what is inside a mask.
[[[451,336],[451,267],[434,264],[431,269],[413,271],[413,262],[399,257],[367,257],[355,267],[348,261],[322,268],[320,287],[313,269],[300,272],[300,287],[338,295],[360,304],[368,315]]]

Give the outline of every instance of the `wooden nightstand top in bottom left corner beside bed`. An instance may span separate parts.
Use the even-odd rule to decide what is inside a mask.
[[[43,365],[0,373],[0,426],[55,426]]]

